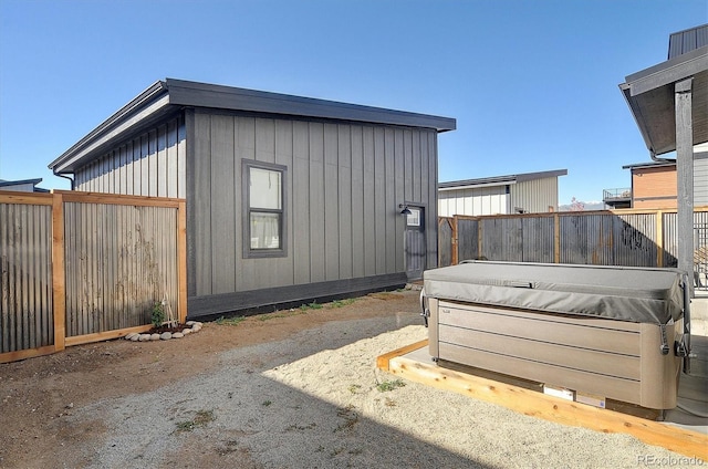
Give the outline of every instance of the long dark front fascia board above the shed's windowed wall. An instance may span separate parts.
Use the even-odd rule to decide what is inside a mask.
[[[170,104],[454,131],[456,119],[312,97],[167,79]]]

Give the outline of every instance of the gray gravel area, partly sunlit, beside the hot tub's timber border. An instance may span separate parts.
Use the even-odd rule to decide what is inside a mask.
[[[217,366],[74,408],[90,468],[636,468],[702,461],[523,416],[376,368],[417,313],[332,321],[216,352]],[[190,366],[185,363],[186,367]],[[137,379],[137,378],[136,378]],[[693,462],[693,465],[691,465]]]

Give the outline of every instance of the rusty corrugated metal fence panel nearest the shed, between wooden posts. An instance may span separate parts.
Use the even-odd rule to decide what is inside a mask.
[[[150,323],[156,301],[177,315],[177,210],[67,202],[66,336]]]

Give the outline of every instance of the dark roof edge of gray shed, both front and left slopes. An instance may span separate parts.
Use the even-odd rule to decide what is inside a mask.
[[[49,168],[54,174],[72,174],[128,133],[183,107],[425,127],[437,132],[454,131],[457,126],[456,119],[449,117],[166,79],[123,106],[50,163]]]

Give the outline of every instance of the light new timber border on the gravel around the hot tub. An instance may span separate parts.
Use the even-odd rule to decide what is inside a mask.
[[[501,405],[531,417],[602,432],[628,434],[648,445],[708,461],[708,435],[561,399],[406,356],[427,344],[428,341],[421,341],[381,355],[376,366],[416,383]]]

